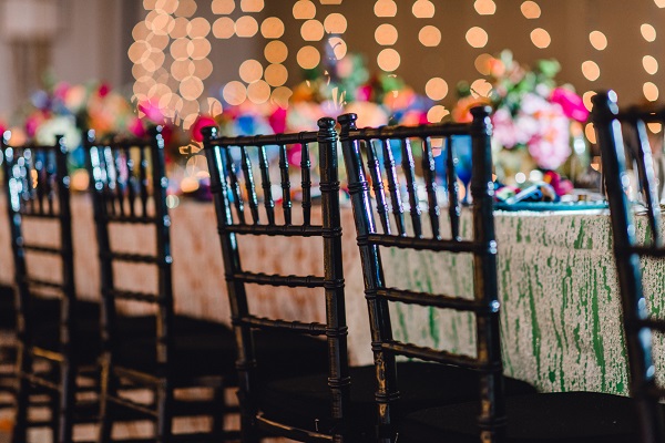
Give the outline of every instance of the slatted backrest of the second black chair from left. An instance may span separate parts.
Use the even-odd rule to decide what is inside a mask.
[[[102,329],[105,349],[113,352],[119,324],[117,303],[130,300],[156,308],[157,364],[163,370],[172,349],[173,288],[172,256],[162,127],[150,131],[145,138],[96,141],[89,132],[85,151],[90,171],[90,189],[99,245],[102,292]],[[154,228],[154,254],[119,251],[112,246],[110,226]],[[146,292],[120,288],[122,276],[114,264],[144,264],[157,268],[157,289]],[[155,374],[157,377],[164,373]]]

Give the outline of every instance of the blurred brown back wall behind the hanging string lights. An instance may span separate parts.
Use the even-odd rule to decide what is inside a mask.
[[[40,85],[42,71],[47,69],[57,80],[72,83],[105,80],[113,86],[126,85],[131,90],[135,80],[134,64],[127,56],[134,42],[132,31],[156,2],[175,0],[0,0],[0,4],[11,8],[17,1],[23,4],[22,9],[28,3],[35,3],[42,12],[51,14],[54,11],[52,17],[38,13],[35,28],[51,29],[53,22],[55,28],[48,35],[17,37],[8,31],[7,23],[13,23],[9,28],[16,29],[16,23],[24,18],[17,17],[17,12],[3,13],[0,42],[0,60],[4,62],[3,81],[0,82],[2,115],[9,114]],[[623,103],[657,100],[665,75],[665,68],[662,68],[665,64],[663,0],[433,0],[431,3],[427,0],[395,3],[391,0],[313,0],[315,12],[310,19],[296,19],[296,1],[290,0],[181,1],[190,2],[192,13],[187,20],[203,18],[212,28],[206,40],[211,43],[207,59],[213,71],[204,80],[204,94],[209,96],[219,97],[221,87],[229,81],[242,82],[239,66],[243,61],[256,60],[264,68],[269,64],[264,50],[275,39],[265,38],[260,28],[250,37],[238,37],[235,28],[228,37],[224,25],[215,28],[215,22],[223,18],[228,19],[224,22],[227,25],[237,27],[243,17],[252,17],[259,27],[272,17],[284,23],[284,34],[278,40],[288,48],[288,56],[283,63],[288,71],[286,86],[301,80],[297,56],[301,48],[311,45],[324,52],[321,41],[305,40],[305,22],[325,23],[332,13],[346,19],[346,32],[339,35],[346,50],[365,54],[370,71],[379,69],[377,56],[381,51],[393,50],[390,53],[399,55],[395,74],[403,78],[417,92],[424,93],[424,86],[432,78],[446,81],[449,93],[441,100],[443,104],[453,102],[454,86],[460,80],[473,81],[482,76],[475,68],[479,55],[495,54],[507,48],[526,64],[542,58],[555,58],[562,65],[560,81],[572,83],[580,94],[615,89]],[[303,1],[309,2],[298,0]],[[193,11],[191,3],[194,3]],[[393,17],[377,17],[377,11],[379,16],[386,10],[390,12],[390,3],[396,8]],[[424,3],[434,7],[433,16],[416,17],[416,13],[422,16],[418,8],[428,11]],[[536,4],[538,14],[531,3]],[[532,18],[528,18],[529,14]],[[397,30],[393,44],[377,42],[386,37],[377,31],[387,29],[381,25],[392,25]],[[426,27],[429,27],[429,33],[423,31]],[[468,35],[470,30],[480,35]],[[482,31],[487,43],[481,45]],[[424,37],[419,38],[422,32]],[[433,47],[424,45],[423,39],[427,44],[437,41],[437,32],[440,42]],[[216,37],[223,34],[228,38]],[[167,59],[164,66],[167,68],[170,47],[164,52]]]

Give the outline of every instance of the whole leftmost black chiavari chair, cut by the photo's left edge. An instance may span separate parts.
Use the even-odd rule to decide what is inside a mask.
[[[71,442],[76,394],[83,391],[76,380],[85,370],[96,385],[99,351],[99,342],[80,333],[78,323],[81,317],[99,316],[99,310],[75,297],[68,150],[62,137],[52,146],[17,146],[3,137],[2,155],[18,311],[12,441],[24,443],[29,427],[49,426],[53,441]],[[39,226],[27,226],[30,223]],[[59,241],[34,241],[42,229],[55,230],[49,238]],[[38,276],[30,266],[34,256],[59,260],[60,281]],[[40,395],[48,400],[32,401]],[[51,418],[31,419],[29,412],[34,406],[47,406]]]

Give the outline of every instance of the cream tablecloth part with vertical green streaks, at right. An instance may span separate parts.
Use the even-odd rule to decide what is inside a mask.
[[[644,222],[637,218],[638,236],[645,235]],[[505,372],[543,391],[627,394],[608,214],[498,212],[495,226]],[[466,218],[462,234],[469,230]],[[410,289],[471,295],[470,257],[403,260],[401,250],[386,250],[382,257],[389,279],[408,281]],[[646,293],[663,293],[663,261],[645,261],[643,268]],[[654,315],[664,305],[662,298],[649,298]],[[392,317],[398,339],[474,353],[471,315],[400,306]],[[662,344],[655,349],[661,368]]]

